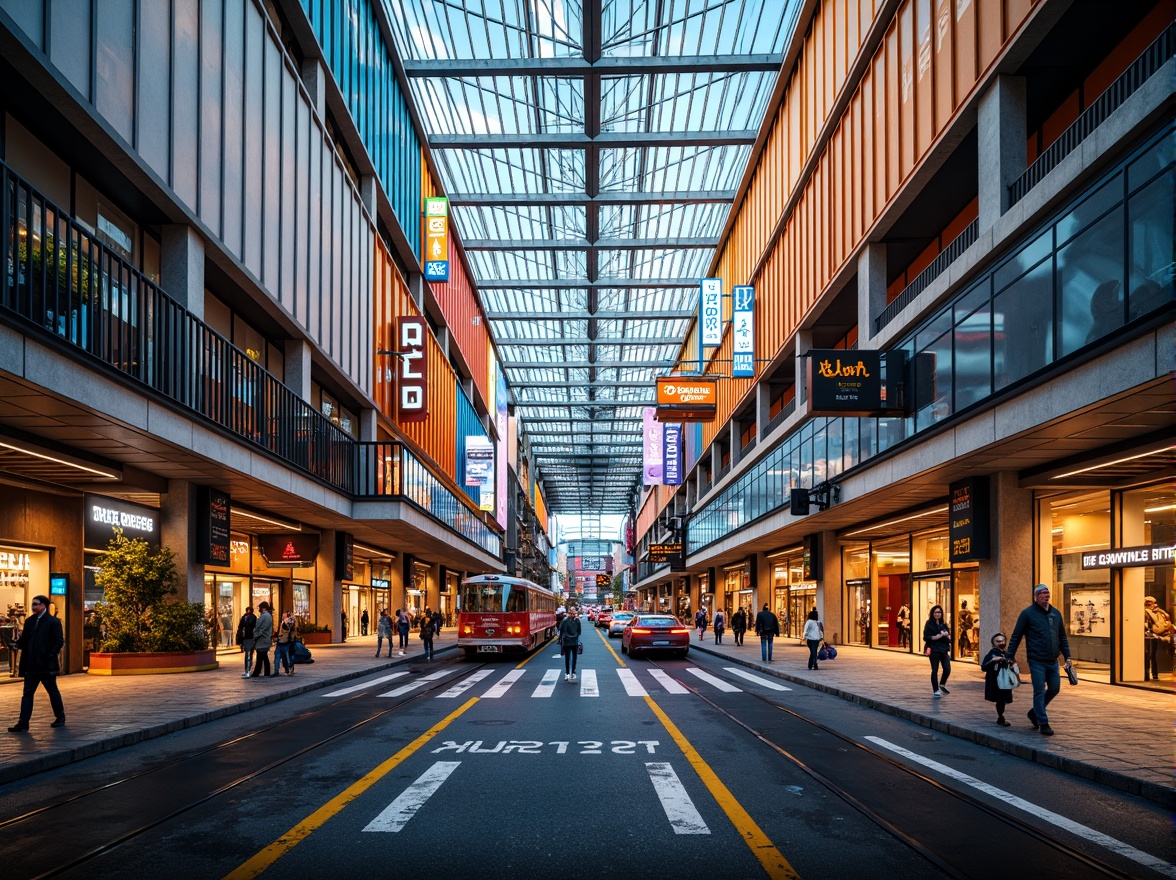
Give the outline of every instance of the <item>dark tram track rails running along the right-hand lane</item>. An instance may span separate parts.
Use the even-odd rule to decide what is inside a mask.
[[[650,664],[650,666],[655,666],[656,668],[662,669],[663,672],[667,672],[667,673],[671,673],[674,671],[674,667],[662,666],[662,665],[660,665],[660,664],[657,664],[655,661],[648,661],[648,662]],[[684,661],[684,662],[688,662],[688,661]],[[821,772],[815,766],[813,766],[813,761],[811,760],[806,760],[806,759],[801,758],[799,754],[794,754],[794,752],[799,752],[800,749],[789,751],[788,748],[784,748],[779,742],[776,742],[773,739],[773,736],[770,736],[769,734],[764,733],[763,731],[756,729],[755,727],[753,727],[751,725],[747,724],[746,721],[743,721],[737,715],[735,715],[731,712],[727,711],[723,706],[719,705],[715,700],[713,700],[709,696],[707,696],[695,685],[691,685],[689,681],[683,681],[682,678],[677,676],[677,675],[675,675],[675,679],[683,687],[686,687],[690,693],[693,693],[695,696],[697,696],[700,700],[702,700],[704,704],[707,704],[710,708],[713,708],[715,712],[720,713],[726,719],[728,719],[729,721],[731,721],[734,725],[736,725],[737,727],[742,728],[743,731],[746,731],[747,733],[749,733],[751,736],[754,736],[755,739],[757,739],[760,742],[762,742],[763,745],[766,745],[773,752],[777,753],[779,755],[781,755],[782,758],[784,758],[786,760],[788,760],[796,768],[799,768],[802,773],[804,773],[806,775],[808,775],[814,781],[818,782],[828,792],[830,792],[831,794],[834,794],[835,796],[837,796],[840,800],[842,800],[843,802],[846,802],[847,805],[849,805],[850,807],[853,807],[855,811],[857,811],[858,813],[861,813],[862,815],[864,815],[871,822],[874,822],[875,825],[877,825],[878,827],[881,827],[883,831],[886,831],[886,833],[891,834],[896,839],[901,840],[903,844],[906,844],[908,847],[910,847],[914,852],[918,853],[921,856],[923,856],[926,860],[928,860],[931,865],[934,865],[936,868],[938,868],[940,871],[942,871],[947,876],[957,878],[960,880],[965,880],[968,878],[976,876],[977,873],[985,873],[985,874],[990,873],[990,871],[991,871],[990,866],[987,866],[982,871],[974,872],[974,873],[969,873],[965,869],[962,869],[954,861],[951,861],[948,858],[944,858],[941,854],[941,852],[935,847],[935,845],[933,842],[927,841],[924,839],[926,835],[916,835],[915,833],[913,833],[910,831],[903,829],[902,827],[900,827],[900,825],[895,824],[894,821],[891,821],[887,816],[882,815],[877,809],[875,809],[874,807],[871,807],[867,802],[864,802],[864,800],[862,798],[855,795],[846,786],[836,782],[828,774]],[[948,798],[950,798],[950,799],[953,799],[955,801],[958,801],[960,804],[965,805],[969,809],[980,811],[982,814],[984,814],[985,816],[988,816],[990,820],[995,820],[1000,825],[1004,826],[1011,834],[1024,835],[1024,836],[1027,836],[1027,838],[1029,838],[1029,839],[1031,839],[1031,840],[1034,840],[1034,841],[1036,841],[1038,844],[1043,844],[1043,845],[1050,847],[1051,849],[1058,852],[1060,854],[1065,855],[1065,856],[1073,859],[1075,862],[1077,862],[1078,865],[1083,866],[1084,868],[1088,868],[1088,869],[1095,872],[1098,876],[1115,878],[1116,880],[1138,880],[1140,874],[1137,872],[1132,873],[1132,872],[1123,871],[1123,869],[1118,868],[1115,865],[1111,865],[1111,864],[1109,864],[1107,861],[1103,861],[1102,859],[1098,859],[1098,858],[1096,858],[1096,856],[1094,856],[1094,855],[1091,855],[1091,854],[1089,854],[1089,853],[1087,853],[1087,852],[1084,852],[1084,851],[1075,847],[1073,844],[1068,842],[1067,840],[1063,840],[1062,838],[1060,838],[1057,835],[1049,834],[1049,833],[1047,833],[1044,831],[1041,831],[1040,828],[1036,828],[1034,826],[1020,822],[1013,815],[1010,815],[1009,813],[1007,813],[1004,811],[1001,811],[1001,809],[997,809],[996,807],[994,807],[990,804],[987,804],[985,801],[981,800],[980,798],[975,798],[975,796],[968,794],[967,792],[962,792],[962,791],[958,791],[958,789],[953,788],[950,786],[947,786],[943,782],[941,782],[940,780],[937,780],[937,779],[935,779],[935,778],[933,778],[933,776],[930,776],[930,775],[928,775],[926,773],[922,773],[921,771],[915,769],[914,767],[911,767],[911,766],[909,766],[909,765],[907,765],[907,764],[897,760],[896,758],[894,758],[894,756],[891,756],[891,755],[889,755],[889,754],[887,754],[884,752],[880,752],[880,751],[877,751],[875,748],[871,748],[868,745],[858,742],[857,740],[855,740],[855,739],[853,739],[850,736],[847,736],[846,734],[840,733],[838,731],[835,731],[831,727],[828,727],[827,725],[821,724],[820,721],[814,721],[813,719],[807,718],[806,715],[802,715],[799,712],[795,712],[794,709],[790,709],[790,708],[788,708],[786,706],[781,706],[780,704],[775,702],[774,700],[771,700],[770,698],[768,698],[768,696],[766,696],[763,694],[755,693],[754,691],[744,691],[744,693],[747,695],[749,695],[749,696],[759,700],[760,702],[762,702],[762,704],[764,704],[767,706],[770,706],[771,708],[776,709],[777,712],[783,713],[784,715],[787,715],[788,718],[790,718],[794,722],[799,722],[801,725],[804,725],[804,726],[808,726],[808,727],[811,727],[811,728],[816,728],[816,729],[821,731],[822,733],[824,733],[824,734],[827,734],[829,736],[833,736],[836,740],[847,744],[848,746],[851,746],[854,749],[856,749],[856,753],[858,755],[866,755],[869,759],[882,761],[884,765],[887,765],[888,767],[893,768],[894,771],[897,771],[897,772],[900,772],[902,774],[906,774],[907,776],[913,778],[913,779],[917,780],[918,782],[921,782],[923,785],[930,786],[933,789],[935,789],[941,795],[948,796]],[[994,839],[994,841],[995,840],[1001,840],[1001,846],[1002,846],[1002,851],[1003,851],[1004,847],[1005,847],[1005,841],[1003,839]],[[1061,874],[1054,873],[1051,875],[1053,876],[1060,876]],[[1160,876],[1160,874],[1152,874],[1152,875]]]

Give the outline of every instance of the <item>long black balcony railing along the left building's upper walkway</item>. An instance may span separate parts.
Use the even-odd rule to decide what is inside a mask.
[[[0,162],[0,309],[288,466],[363,499],[395,495],[500,555],[501,539],[401,444],[363,444],[198,320]]]

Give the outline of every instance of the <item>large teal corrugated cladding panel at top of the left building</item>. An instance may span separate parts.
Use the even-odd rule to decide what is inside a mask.
[[[421,142],[368,0],[300,0],[405,238],[421,256]]]

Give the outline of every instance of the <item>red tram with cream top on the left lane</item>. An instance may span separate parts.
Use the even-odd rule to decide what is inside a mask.
[[[533,651],[555,634],[555,594],[529,580],[477,574],[457,601],[457,647],[469,656]]]

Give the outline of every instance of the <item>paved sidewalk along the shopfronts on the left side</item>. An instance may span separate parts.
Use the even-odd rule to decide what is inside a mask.
[[[374,656],[375,635],[312,645],[313,664],[295,666],[293,675],[283,673],[272,679],[242,679],[245,658],[239,651],[218,652],[220,667],[208,672],[62,675],[58,686],[66,707],[66,726],[49,727],[49,698],[38,688],[28,733],[7,731],[20,714],[22,681],[5,676],[0,679],[0,784],[373,672],[420,662],[420,639],[413,634],[408,642],[405,656],[395,649],[387,656],[385,646],[380,659]],[[442,631],[434,640],[437,655],[456,649],[456,629]]]

